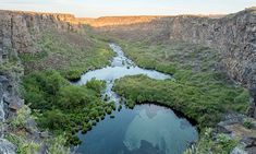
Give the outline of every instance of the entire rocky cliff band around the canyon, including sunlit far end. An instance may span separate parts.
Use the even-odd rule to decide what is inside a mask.
[[[256,8],[230,15],[112,16],[75,19],[71,14],[0,11],[0,61],[20,52],[39,51],[33,46],[44,29],[77,31],[89,24],[131,40],[183,40],[217,48],[234,81],[256,86]],[[12,51],[10,51],[12,50]]]

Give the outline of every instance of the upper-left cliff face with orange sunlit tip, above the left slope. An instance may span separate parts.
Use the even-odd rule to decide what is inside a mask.
[[[75,31],[77,27],[78,23],[70,14],[0,11],[0,59],[10,54],[37,51],[32,45],[44,29]]]

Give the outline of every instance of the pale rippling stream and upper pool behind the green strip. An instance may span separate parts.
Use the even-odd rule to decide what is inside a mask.
[[[126,58],[121,49],[121,47],[110,44],[110,47],[115,52],[110,67],[106,67],[98,70],[89,71],[81,76],[81,80],[76,82],[78,85],[85,84],[92,79],[103,80],[107,82],[107,88],[102,94],[102,97],[107,95],[109,102],[113,100],[119,103],[119,96],[112,91],[114,80],[123,78],[125,75],[137,75],[145,74],[151,79],[166,80],[172,79],[171,75],[164,74],[155,70],[146,70],[137,67],[131,59]]]

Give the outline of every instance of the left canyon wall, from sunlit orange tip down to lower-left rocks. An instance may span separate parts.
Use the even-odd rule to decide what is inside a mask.
[[[46,29],[73,32],[81,26],[70,14],[0,11],[0,100],[3,100],[1,109],[5,111],[3,118],[15,115],[23,106],[20,79],[24,69],[19,54],[39,52],[34,44]]]

